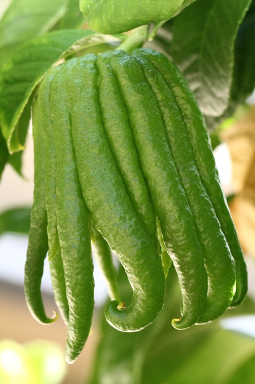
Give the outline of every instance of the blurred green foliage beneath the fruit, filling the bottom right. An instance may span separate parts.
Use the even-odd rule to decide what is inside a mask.
[[[121,297],[131,300],[132,290],[122,267]],[[101,341],[89,384],[241,384],[255,382],[255,339],[223,330],[220,322],[179,331],[181,290],[174,267],[166,280],[166,300],[158,318],[140,332],[114,332],[102,311]],[[227,316],[255,314],[249,297]],[[242,380],[236,381],[236,377]]]

